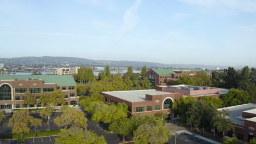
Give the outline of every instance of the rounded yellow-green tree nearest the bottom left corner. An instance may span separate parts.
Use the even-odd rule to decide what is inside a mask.
[[[30,133],[30,123],[32,116],[28,113],[28,110],[21,109],[13,114],[13,117],[9,119],[9,127],[13,127],[13,133],[19,134],[21,139],[26,133]]]

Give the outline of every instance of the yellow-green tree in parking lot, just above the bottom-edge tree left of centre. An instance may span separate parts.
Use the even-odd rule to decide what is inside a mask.
[[[72,126],[86,128],[87,118],[84,117],[84,112],[78,111],[77,108],[69,107],[67,105],[62,106],[61,110],[63,114],[54,119],[54,122],[59,126],[69,128]]]

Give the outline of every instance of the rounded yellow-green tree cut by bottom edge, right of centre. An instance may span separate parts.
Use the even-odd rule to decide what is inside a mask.
[[[134,131],[133,141],[135,144],[166,143],[171,136],[170,129],[161,124],[142,124]]]

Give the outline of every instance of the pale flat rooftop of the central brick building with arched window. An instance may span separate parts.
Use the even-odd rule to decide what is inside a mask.
[[[123,99],[130,102],[147,101],[146,94],[149,95],[162,95],[162,94],[174,94],[171,92],[156,91],[155,89],[138,90],[138,91],[114,91],[114,92],[102,92],[119,99]]]

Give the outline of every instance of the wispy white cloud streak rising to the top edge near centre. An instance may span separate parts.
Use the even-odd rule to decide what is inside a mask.
[[[125,10],[125,14],[123,16],[123,24],[119,31],[119,36],[132,31],[133,28],[135,28],[137,24],[137,10],[139,8],[139,5],[141,5],[142,0],[136,0],[132,6]]]

